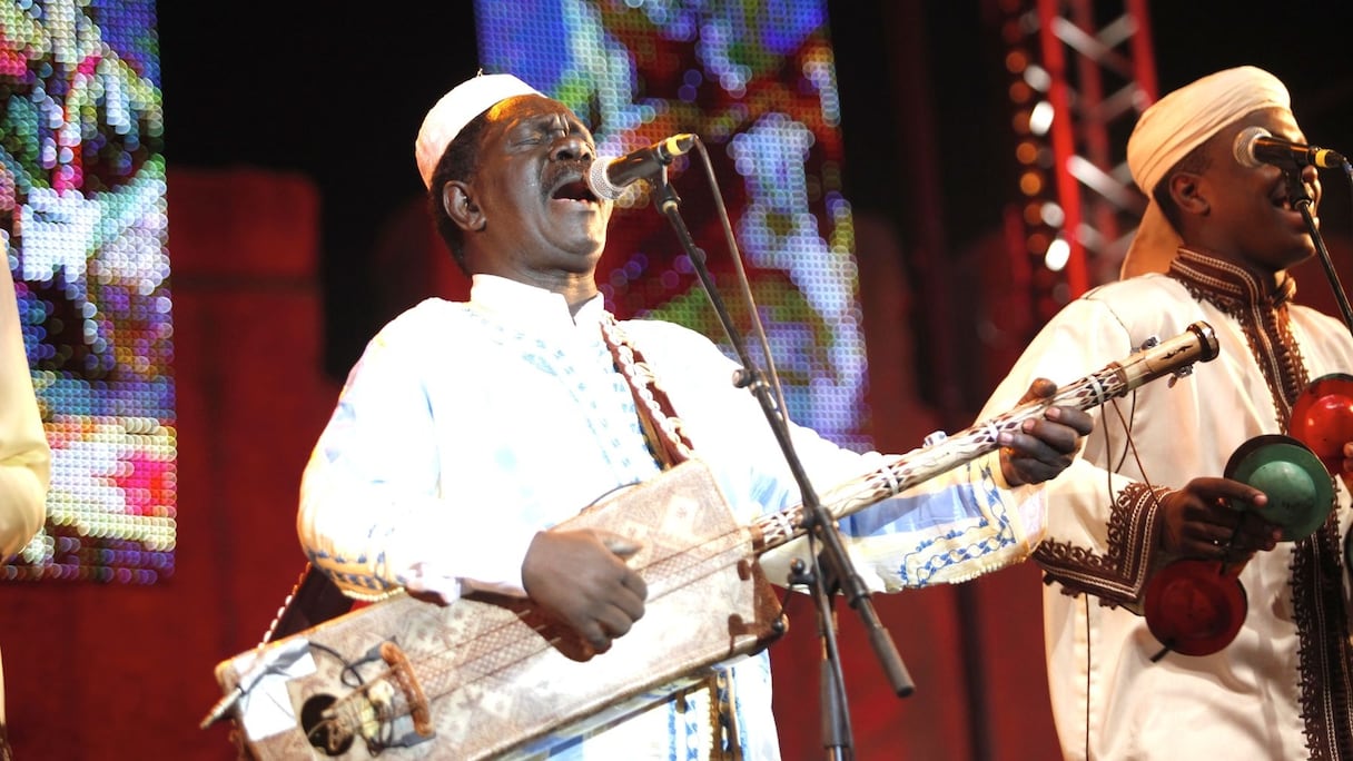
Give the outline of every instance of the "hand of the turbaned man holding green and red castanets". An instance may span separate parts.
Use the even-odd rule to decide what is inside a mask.
[[[1237,509],[1235,504],[1247,505]],[[1230,478],[1195,478],[1161,498],[1161,548],[1172,555],[1249,561],[1283,538],[1279,525],[1264,520],[1268,496]]]

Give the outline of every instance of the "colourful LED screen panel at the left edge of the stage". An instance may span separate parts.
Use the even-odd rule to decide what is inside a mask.
[[[5,580],[173,573],[175,390],[152,0],[0,4],[0,249],[53,450]]]

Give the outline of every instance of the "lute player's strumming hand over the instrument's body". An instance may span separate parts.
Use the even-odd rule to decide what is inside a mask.
[[[605,653],[644,615],[648,586],[625,565],[637,551],[606,531],[541,531],[522,561],[522,584],[541,608]]]

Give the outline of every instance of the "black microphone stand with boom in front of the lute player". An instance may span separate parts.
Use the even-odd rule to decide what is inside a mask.
[[[704,150],[702,145],[698,145],[698,148]],[[873,600],[870,599],[869,586],[855,570],[850,555],[846,552],[846,546],[842,542],[840,531],[836,527],[836,523],[823,508],[817,492],[808,479],[808,474],[804,470],[804,464],[800,460],[789,435],[786,413],[779,409],[770,386],[766,383],[764,375],[754,364],[751,355],[747,351],[747,344],[736,325],[733,325],[732,316],[729,314],[723,297],[720,297],[718,288],[714,286],[713,276],[709,274],[709,267],[705,261],[705,252],[695,245],[695,240],[691,237],[685,219],[682,219],[681,198],[671,187],[671,183],[667,181],[666,164],[655,172],[655,176],[651,179],[651,184],[653,188],[653,204],[676,232],[676,238],[686,251],[686,256],[690,259],[695,274],[700,276],[700,282],[705,287],[705,294],[709,297],[709,301],[718,316],[718,321],[724,326],[724,332],[728,334],[729,341],[732,341],[733,349],[737,352],[739,362],[741,362],[741,368],[735,374],[733,383],[737,387],[748,389],[752,395],[756,397],[762,412],[766,414],[766,421],[770,424],[770,428],[775,435],[775,441],[779,444],[779,448],[785,455],[785,460],[789,463],[790,473],[798,483],[804,505],[804,528],[808,531],[809,538],[816,536],[821,540],[821,557],[825,559],[827,566],[825,575],[831,578],[833,586],[840,588],[846,600],[850,603],[850,607],[859,612],[869,634],[870,646],[873,647],[875,657],[879,659],[893,692],[900,697],[911,695],[915,685],[907,672],[907,666],[902,665],[902,658],[898,655],[892,636],[878,619],[878,613],[874,609]],[[817,565],[816,558],[815,565]],[[833,632],[835,616],[831,611],[829,601],[832,589],[827,586],[828,581],[824,578],[823,573],[802,573],[801,562],[800,570],[792,571],[789,584],[793,585],[797,580],[813,582],[813,596],[817,603],[819,612],[819,628],[823,635],[823,676],[824,678],[828,674],[832,677],[831,684],[823,687],[823,708],[827,711],[827,715],[823,718],[823,729],[827,734],[824,738],[824,747],[827,749],[829,758],[846,760],[852,754],[852,739],[850,737],[850,720],[848,711],[846,708],[846,685]]]

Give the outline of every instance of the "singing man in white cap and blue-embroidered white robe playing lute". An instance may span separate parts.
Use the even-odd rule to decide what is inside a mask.
[[[429,299],[371,340],[306,467],[302,544],[354,597],[529,597],[599,653],[589,668],[606,668],[612,642],[644,626],[648,585],[626,565],[636,547],[547,528],[690,458],[709,463],[740,520],[796,505],[798,489],[714,344],[674,324],[617,321],[602,303],[594,278],[612,203],[584,181],[593,137],[563,103],[511,74],[474,77],[432,107],[415,154],[438,230],[472,279],[469,302]],[[1040,535],[1026,516],[1050,509],[1040,483],[1088,432],[1086,413],[1050,408],[1000,454],[843,521],[852,552],[890,590],[916,558],[951,580],[1024,558]],[[805,428],[793,440],[815,483],[879,458]],[[766,658],[723,665],[551,758],[778,758]]]

